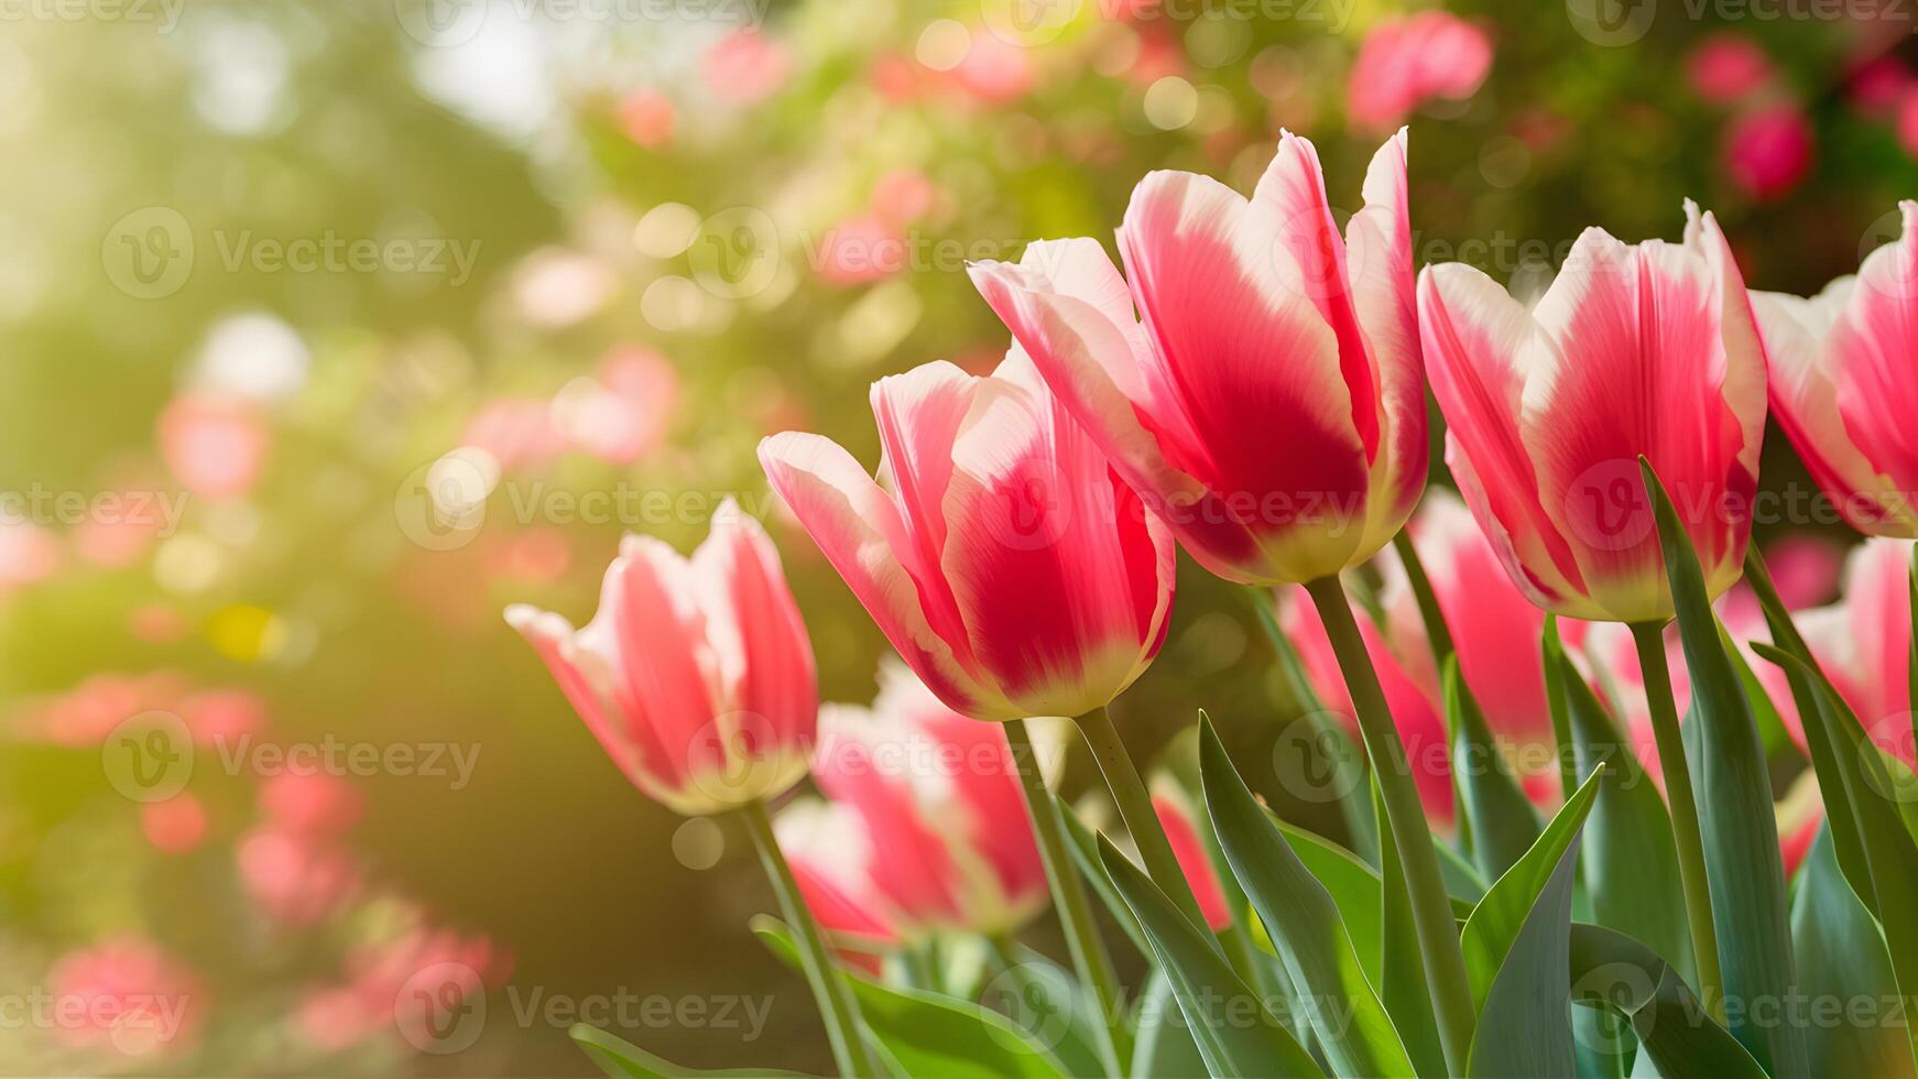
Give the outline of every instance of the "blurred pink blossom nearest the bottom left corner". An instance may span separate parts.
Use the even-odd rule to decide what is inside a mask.
[[[140,937],[113,937],[63,954],[46,976],[54,1035],[125,1056],[175,1056],[198,1043],[205,1000],[175,956]]]

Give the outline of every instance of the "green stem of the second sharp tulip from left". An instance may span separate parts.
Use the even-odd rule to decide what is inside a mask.
[[[1045,790],[1045,776],[1040,774],[1040,759],[1032,749],[1026,721],[1005,723],[1005,740],[1013,747],[1013,769],[1018,772],[1018,788],[1026,795],[1026,816],[1032,820],[1032,836],[1040,841],[1040,861],[1045,862],[1045,882],[1053,889],[1053,910],[1059,912],[1059,926],[1066,933],[1072,970],[1078,972],[1080,983],[1091,987],[1099,1002],[1099,1029],[1105,1031],[1105,1037],[1099,1039],[1099,1056],[1109,1073],[1124,1075],[1132,1062],[1132,1033],[1126,1029],[1118,997],[1118,972],[1112,970],[1112,956],[1099,937],[1099,924],[1093,922],[1086,882],[1080,880],[1078,866],[1072,864],[1072,855],[1066,851],[1064,822],[1059,820],[1059,805]]]

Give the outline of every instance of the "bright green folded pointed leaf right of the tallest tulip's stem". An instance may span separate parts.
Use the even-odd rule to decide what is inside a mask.
[[[1571,893],[1579,830],[1592,811],[1598,780],[1592,776],[1571,795],[1465,920],[1460,943],[1479,1006],[1469,1075],[1571,1079],[1577,1073],[1567,974]]]

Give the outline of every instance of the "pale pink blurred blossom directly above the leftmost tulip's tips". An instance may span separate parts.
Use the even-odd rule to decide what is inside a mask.
[[[652,452],[679,404],[679,376],[666,356],[623,345],[600,358],[593,378],[573,379],[552,401],[552,424],[573,445],[608,464]]]

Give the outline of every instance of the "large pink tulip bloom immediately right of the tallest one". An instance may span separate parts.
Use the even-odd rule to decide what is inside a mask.
[[[1672,617],[1640,456],[1707,590],[1740,575],[1765,360],[1717,220],[1686,215],[1682,245],[1586,228],[1532,310],[1462,263],[1419,278],[1452,475],[1519,590],[1567,617]]]

